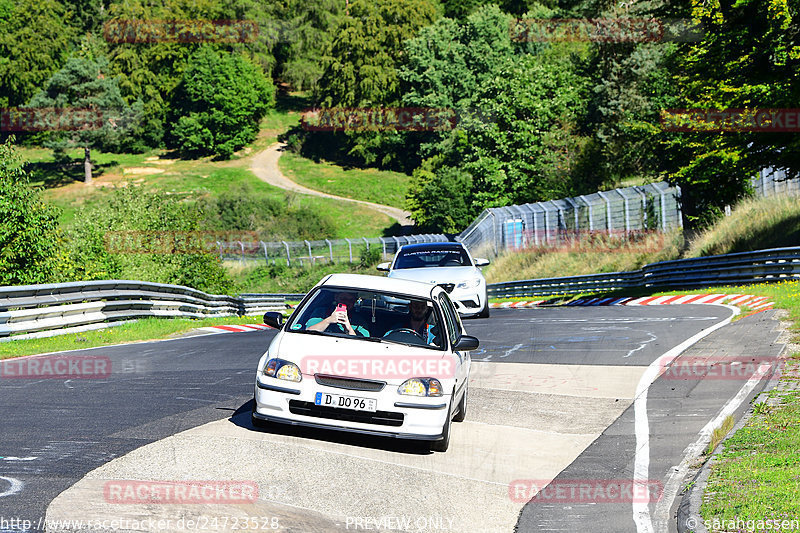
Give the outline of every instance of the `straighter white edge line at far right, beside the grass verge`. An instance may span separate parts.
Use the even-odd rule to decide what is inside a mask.
[[[694,463],[694,461],[700,457],[700,455],[702,455],[703,450],[708,447],[708,443],[711,442],[711,434],[714,432],[714,429],[720,427],[725,418],[736,412],[742,402],[747,399],[747,396],[750,394],[750,392],[752,392],[755,386],[764,376],[767,375],[769,369],[770,365],[766,364],[758,367],[758,371],[753,374],[749,380],[747,380],[747,383],[742,385],[742,388],[739,389],[739,392],[737,392],[733,398],[728,400],[728,402],[722,407],[722,410],[719,412],[719,414],[700,430],[700,436],[697,438],[697,440],[690,444],[686,450],[684,450],[684,456],[681,463],[677,467],[673,468],[669,474],[667,474],[667,482],[664,483],[664,492],[662,493],[661,500],[659,500],[659,502],[656,504],[655,523],[658,525],[659,531],[667,530],[667,524],[669,522],[669,509],[672,506],[673,500],[675,500],[675,497],[678,495],[681,482],[685,479],[686,474],[689,471],[689,465]]]

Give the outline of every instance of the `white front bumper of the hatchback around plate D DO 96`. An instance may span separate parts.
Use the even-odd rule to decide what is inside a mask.
[[[376,400],[377,410],[372,413],[317,406],[314,398],[318,392],[372,398]],[[397,385],[388,383],[380,391],[360,391],[321,385],[313,376],[303,376],[303,381],[296,383],[259,373],[253,416],[269,422],[320,429],[401,439],[439,440],[442,438],[450,400],[449,395],[434,398],[403,396],[397,394]]]

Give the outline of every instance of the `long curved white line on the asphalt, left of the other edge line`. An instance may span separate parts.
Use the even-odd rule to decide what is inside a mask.
[[[720,304],[721,305],[721,304]],[[639,380],[636,386],[636,396],[633,402],[634,419],[635,419],[635,433],[636,433],[636,457],[634,459],[633,467],[633,485],[634,487],[642,487],[643,490],[647,489],[648,477],[650,472],[650,424],[647,419],[647,391],[650,385],[661,375],[667,364],[672,362],[676,357],[683,353],[687,348],[695,344],[697,341],[706,337],[726,326],[730,321],[739,314],[737,307],[724,306],[731,310],[731,316],[708,327],[697,333],[696,335],[686,339],[679,345],[667,351],[664,355],[653,361],[650,366],[645,370],[644,375]],[[650,507],[648,502],[634,501],[633,507],[633,521],[636,524],[636,531],[638,533],[653,533],[653,521],[650,518]]]

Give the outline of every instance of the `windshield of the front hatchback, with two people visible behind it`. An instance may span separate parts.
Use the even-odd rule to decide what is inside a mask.
[[[433,303],[355,288],[317,289],[297,310],[288,331],[444,349],[442,321]]]

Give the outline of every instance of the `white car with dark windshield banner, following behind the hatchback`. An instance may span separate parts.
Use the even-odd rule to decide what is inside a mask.
[[[392,262],[377,268],[390,278],[442,285],[461,315],[487,318],[489,295],[481,267],[488,264],[488,259],[473,259],[459,242],[426,242],[400,247]]]

